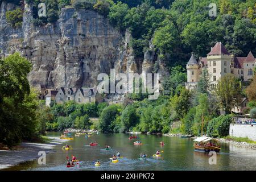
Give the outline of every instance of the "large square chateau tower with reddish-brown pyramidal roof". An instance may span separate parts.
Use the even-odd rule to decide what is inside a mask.
[[[217,42],[207,55],[207,69],[212,88],[216,87],[218,80],[227,73],[231,73],[232,55],[221,42]]]

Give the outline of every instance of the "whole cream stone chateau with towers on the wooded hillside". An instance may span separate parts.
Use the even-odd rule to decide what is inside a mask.
[[[250,81],[253,78],[253,69],[256,59],[251,51],[247,57],[235,57],[230,55],[221,42],[217,42],[207,57],[200,57],[196,60],[192,53],[187,63],[186,88],[191,90],[197,88],[202,69],[207,69],[210,75],[210,85],[215,88],[218,80],[226,73],[232,73],[242,81]]]

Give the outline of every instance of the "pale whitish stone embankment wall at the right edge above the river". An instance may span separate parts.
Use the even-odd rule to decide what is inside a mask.
[[[230,124],[229,135],[232,137],[248,137],[256,141],[256,125]]]

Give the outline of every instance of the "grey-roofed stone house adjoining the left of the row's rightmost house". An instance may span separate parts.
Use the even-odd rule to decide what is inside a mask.
[[[74,101],[76,88],[61,87],[55,96],[55,102],[57,104],[63,104],[66,101]]]

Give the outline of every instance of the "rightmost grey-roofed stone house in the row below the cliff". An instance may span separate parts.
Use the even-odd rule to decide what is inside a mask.
[[[75,94],[75,102],[78,104],[101,102],[101,94],[98,93],[97,87],[94,88],[79,88]]]

